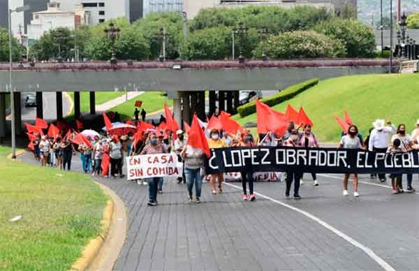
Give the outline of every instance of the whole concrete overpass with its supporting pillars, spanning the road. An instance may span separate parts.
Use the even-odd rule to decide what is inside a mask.
[[[398,66],[399,63],[394,61]],[[387,59],[308,59],[178,62],[108,62],[13,64],[13,89],[35,91],[37,115],[43,117],[42,93],[57,93],[57,119],[62,118],[61,91],[75,91],[75,117],[80,116],[80,91],[90,91],[91,114],[95,114],[94,91],[168,91],[174,99],[175,117],[187,122],[191,112],[203,117],[205,91],[210,91],[210,111],[215,111],[215,91],[220,91],[219,110],[233,110],[238,89],[284,89],[311,78],[387,73]],[[5,94],[8,64],[0,64],[0,137],[5,136]],[[15,95],[16,126],[20,121],[20,95]]]

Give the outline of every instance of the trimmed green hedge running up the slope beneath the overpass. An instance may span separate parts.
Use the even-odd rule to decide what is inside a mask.
[[[300,94],[302,91],[309,89],[318,84],[318,79],[311,79],[304,81],[297,85],[292,85],[291,87],[287,87],[283,91],[279,91],[278,94],[272,95],[267,98],[263,98],[260,100],[263,103],[266,103],[269,106],[277,105],[278,103],[282,103],[287,101],[297,94]],[[256,112],[256,102],[247,103],[237,108],[240,117],[246,117]]]

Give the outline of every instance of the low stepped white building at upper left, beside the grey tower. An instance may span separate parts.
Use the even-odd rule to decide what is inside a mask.
[[[27,37],[30,41],[37,40],[41,36],[58,27],[66,27],[74,30],[82,24],[89,23],[89,13],[82,6],[75,6],[73,11],[62,11],[58,2],[51,2],[47,10],[32,14],[34,20],[27,26]]]

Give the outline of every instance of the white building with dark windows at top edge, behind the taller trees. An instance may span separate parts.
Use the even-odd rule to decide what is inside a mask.
[[[81,4],[89,11],[89,24],[94,25],[117,17],[126,17],[129,21],[129,0],[57,0],[61,10],[70,11],[76,4]]]

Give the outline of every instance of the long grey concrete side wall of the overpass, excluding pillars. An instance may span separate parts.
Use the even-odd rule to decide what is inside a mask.
[[[237,90],[284,89],[311,78],[386,73],[385,66],[323,66],[307,68],[147,68],[123,70],[13,71],[17,91]],[[8,71],[0,70],[0,89],[6,89]]]

